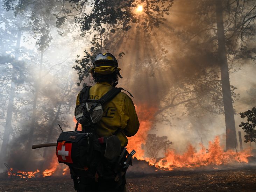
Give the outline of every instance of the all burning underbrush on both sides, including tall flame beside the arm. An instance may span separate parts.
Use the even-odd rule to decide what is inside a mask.
[[[141,105],[136,107],[138,117],[140,119],[140,129],[138,133],[129,138],[127,150],[130,152],[132,149],[136,150],[134,155],[134,167],[129,172],[165,172],[177,169],[219,169],[223,166],[238,166],[248,163],[248,157],[251,156],[250,150],[245,149],[242,151],[228,150],[225,151],[220,145],[219,136],[216,136],[214,141],[208,143],[208,146],[202,146],[201,150],[196,151],[195,146],[188,145],[187,149],[183,153],[178,153],[171,149],[166,149],[165,156],[162,158],[149,158],[143,149],[143,145],[146,144],[147,136],[150,129],[153,126],[155,107],[148,107]],[[16,171],[21,173],[19,176],[24,178],[34,177],[49,177],[49,176],[62,176],[69,175],[69,169],[64,164],[59,164],[57,157],[53,154],[51,162],[45,170],[31,170],[29,172]],[[9,177],[13,175],[13,169],[10,168],[8,171]]]

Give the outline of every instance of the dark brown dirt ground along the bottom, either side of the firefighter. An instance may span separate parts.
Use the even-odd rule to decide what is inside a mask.
[[[256,166],[128,174],[127,191],[256,191]],[[0,180],[0,191],[74,191],[68,176]]]

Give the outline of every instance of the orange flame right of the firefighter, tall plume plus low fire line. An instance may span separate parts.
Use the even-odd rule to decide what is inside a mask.
[[[248,163],[247,157],[250,156],[249,150],[235,151],[228,150],[224,151],[223,147],[220,146],[219,137],[216,136],[213,142],[209,142],[209,146],[206,149],[202,147],[199,152],[195,151],[192,145],[187,147],[186,152],[183,154],[177,154],[173,150],[168,150],[165,157],[156,161],[149,157],[145,157],[142,144],[146,143],[148,132],[153,126],[155,107],[147,107],[147,105],[136,106],[138,118],[140,120],[140,129],[138,133],[129,138],[127,150],[136,150],[135,157],[138,160],[145,160],[150,165],[155,165],[158,169],[173,170],[174,168],[196,168],[207,165],[221,165],[231,164],[235,162]]]

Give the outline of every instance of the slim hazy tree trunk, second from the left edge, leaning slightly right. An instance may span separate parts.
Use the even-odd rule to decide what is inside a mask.
[[[43,65],[43,51],[41,51],[41,58],[40,58],[40,71],[38,74],[38,80],[35,84],[35,97],[34,97],[34,102],[33,102],[33,113],[32,113],[32,120],[31,120],[31,127],[29,130],[29,135],[28,135],[28,144],[27,144],[27,149],[28,149],[28,155],[31,152],[31,146],[33,142],[33,135],[34,135],[34,130],[35,130],[35,122],[36,122],[36,104],[37,104],[37,99],[38,99],[38,94],[39,94],[39,89],[40,89],[40,82],[41,82],[41,71],[42,71],[42,65]]]

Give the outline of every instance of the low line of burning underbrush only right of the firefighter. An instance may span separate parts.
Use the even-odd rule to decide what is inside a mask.
[[[136,155],[136,154],[135,154]],[[225,151],[220,146],[219,137],[216,136],[213,142],[209,142],[208,149],[204,146],[202,150],[196,151],[192,145],[187,147],[183,154],[178,154],[173,150],[168,150],[165,157],[152,159],[140,156],[133,161],[135,167],[132,172],[139,170],[141,174],[163,173],[165,171],[191,171],[191,170],[215,170],[215,169],[234,169],[247,165],[251,153],[249,149],[243,151],[228,150]],[[134,163],[135,162],[135,163]],[[142,163],[143,162],[143,163]],[[149,165],[149,166],[146,166]]]

